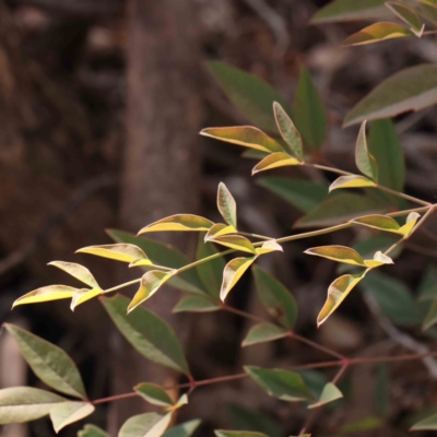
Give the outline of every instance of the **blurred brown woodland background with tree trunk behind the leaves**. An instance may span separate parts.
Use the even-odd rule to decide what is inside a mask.
[[[0,319],[71,354],[91,399],[130,391],[142,380],[174,381],[175,376],[145,364],[115,332],[96,300],[74,314],[64,302],[11,312],[12,302],[32,290],[71,284],[47,262],[84,263],[105,287],[125,282],[130,277],[127,269],[74,251],[110,243],[106,228],[138,232],[175,213],[198,213],[214,221],[220,181],[236,198],[245,231],[286,235],[302,215],[250,177],[253,162],[241,158],[238,147],[198,135],[204,127],[247,123],[209,74],[205,60],[253,73],[288,102],[300,69],[307,67],[328,111],[323,156],[346,170],[354,168],[357,129],[341,128],[344,115],[401,68],[437,62],[433,37],[340,48],[363,23],[309,25],[311,15],[327,3],[0,0]],[[408,191],[429,201],[437,198],[436,126],[433,108],[408,114],[397,123],[406,157]],[[324,177],[294,169],[272,175],[292,174],[315,181]],[[415,238],[412,250],[406,248],[390,269],[412,291],[424,267],[435,262],[432,228],[428,225],[428,234]],[[193,257],[192,236],[164,238]],[[316,317],[335,277],[335,265],[308,259],[303,250],[309,245],[350,244],[354,238],[345,232],[298,241],[287,245],[284,255],[262,260],[296,297],[299,333],[361,356],[432,346],[429,338],[418,339],[378,320],[358,292],[317,331]],[[150,307],[176,328],[198,379],[239,373],[243,364],[286,367],[327,358],[286,340],[240,350],[250,323],[222,312],[172,316],[178,297],[168,288],[151,299]],[[263,315],[249,275],[231,303]],[[427,365],[395,364],[390,370],[358,366],[344,382],[347,402],[322,413],[316,435],[340,435],[341,426],[368,421],[371,430],[359,435],[404,436],[409,417],[437,401],[436,379],[433,359]],[[3,333],[0,387],[38,383]],[[128,413],[144,409],[130,401],[104,404],[87,422],[116,435]],[[197,390],[178,421],[202,418],[198,436],[208,436],[214,428],[247,428],[258,420],[259,430],[279,437],[297,433],[306,415],[305,408],[274,401],[249,381],[235,381]],[[73,436],[79,428],[73,425],[60,435]],[[40,420],[4,427],[0,435],[43,437],[54,432],[47,420]]]

